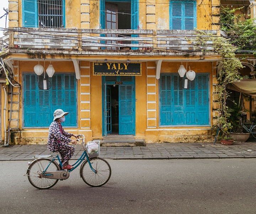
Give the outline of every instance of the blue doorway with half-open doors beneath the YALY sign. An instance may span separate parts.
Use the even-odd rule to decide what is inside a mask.
[[[116,80],[116,81],[109,81]],[[124,80],[124,81],[121,81]],[[134,135],[134,77],[103,77],[103,136]]]

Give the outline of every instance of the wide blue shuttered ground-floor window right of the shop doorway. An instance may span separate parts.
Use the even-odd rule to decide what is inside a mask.
[[[185,89],[185,77],[161,75],[160,125],[209,125],[208,78],[207,74],[197,74]]]

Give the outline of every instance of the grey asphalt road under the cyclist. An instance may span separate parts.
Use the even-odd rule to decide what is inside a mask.
[[[256,159],[110,160],[89,187],[79,170],[49,190],[23,176],[27,161],[0,161],[0,213],[255,214]]]

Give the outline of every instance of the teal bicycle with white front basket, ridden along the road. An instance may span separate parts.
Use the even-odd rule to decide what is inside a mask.
[[[28,181],[32,186],[44,190],[53,187],[59,180],[66,180],[69,174],[80,164],[80,177],[91,187],[100,187],[105,185],[111,176],[110,164],[103,158],[99,158],[100,142],[85,142],[85,136],[79,135],[78,143],[81,142],[84,152],[80,158],[73,164],[72,169],[63,170],[59,154],[36,155],[35,160],[28,163],[27,173]],[[77,144],[78,144],[77,143]],[[84,146],[86,144],[86,146]],[[92,144],[92,145],[91,145]],[[59,161],[59,164],[56,162]]]

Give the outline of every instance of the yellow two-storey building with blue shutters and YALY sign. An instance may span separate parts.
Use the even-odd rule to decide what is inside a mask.
[[[9,2],[2,143],[46,144],[58,108],[70,113],[65,130],[87,141],[214,139],[220,56],[193,41],[195,29],[220,36],[219,0]]]

